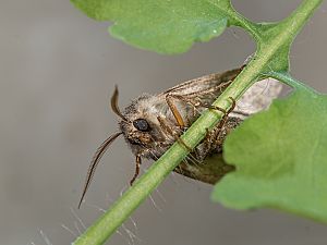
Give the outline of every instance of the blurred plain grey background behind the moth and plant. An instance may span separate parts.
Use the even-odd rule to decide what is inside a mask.
[[[278,21],[301,1],[233,2],[254,21]],[[292,74],[325,93],[326,11],[325,2],[291,53]],[[126,187],[134,158],[118,139],[76,209],[95,149],[117,131],[109,109],[114,84],[124,107],[143,91],[239,66],[255,48],[232,28],[187,53],[159,56],[106,28],[68,0],[0,1],[0,244],[70,244],[84,230],[80,221],[89,225]],[[210,203],[210,192],[169,176],[108,244],[133,244],[131,232],[144,245],[327,244],[326,226],[274,210],[228,210]]]

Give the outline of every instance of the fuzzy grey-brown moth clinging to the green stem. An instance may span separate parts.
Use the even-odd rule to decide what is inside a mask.
[[[111,109],[120,118],[120,132],[108,137],[94,155],[78,207],[101,157],[117,137],[123,135],[135,155],[132,184],[138,175],[143,158],[157,160],[175,140],[180,140],[181,134],[204,110],[219,110],[219,108],[211,108],[210,105],[233,82],[242,69],[243,66],[194,78],[157,95],[143,94],[132,100],[123,111],[118,106],[119,91],[116,86],[111,97]],[[277,81],[264,79],[256,82],[237,102],[231,98],[232,110],[220,109],[225,115],[219,125],[207,132],[203,142],[174,171],[206,183],[215,183],[220,174],[218,177],[211,176],[213,168],[219,168],[221,174],[232,170],[231,166],[227,166],[221,160],[223,139],[245,118],[268,108],[271,100],[278,97],[282,85]],[[218,156],[218,160],[206,163],[206,159],[213,155]]]

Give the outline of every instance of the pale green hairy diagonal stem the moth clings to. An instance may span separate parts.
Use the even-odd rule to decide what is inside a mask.
[[[254,59],[245,66],[235,81],[214,102],[215,106],[228,110],[231,106],[229,97],[240,98],[254,83],[258,74],[263,72],[272,60],[275,53],[293,38],[305,21],[313,13],[322,0],[306,0],[294,11],[290,17],[281,22],[288,25],[278,36],[269,37],[265,49],[259,49]],[[243,26],[244,27],[244,26]],[[253,27],[253,26],[252,26]],[[261,29],[257,29],[257,35]],[[254,29],[251,30],[255,32]],[[221,113],[206,111],[182,136],[187,146],[195,147],[205,136],[206,128],[213,128],[221,119]],[[74,245],[99,245],[114,233],[114,231],[131,216],[143,200],[165,180],[165,177],[184,159],[187,149],[175,143],[157,160],[143,176],[128,189],[112,207],[101,216],[87,231],[82,234]]]

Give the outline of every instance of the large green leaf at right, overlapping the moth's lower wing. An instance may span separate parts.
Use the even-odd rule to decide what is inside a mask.
[[[235,209],[277,208],[327,223],[327,96],[296,90],[227,138],[237,171],[213,199]]]

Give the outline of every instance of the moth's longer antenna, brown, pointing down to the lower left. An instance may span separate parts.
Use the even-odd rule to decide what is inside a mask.
[[[101,159],[101,157],[104,156],[104,154],[106,152],[106,150],[108,149],[108,147],[110,146],[110,144],[119,136],[121,135],[122,132],[119,132],[119,133],[116,133],[113,135],[111,135],[109,138],[107,138],[101,145],[100,147],[97,149],[97,151],[95,152],[92,161],[90,161],[90,164],[88,167],[88,171],[87,171],[87,175],[86,175],[86,181],[85,181],[85,185],[84,185],[84,188],[83,188],[83,194],[82,194],[82,197],[81,197],[81,200],[78,203],[78,209],[82,205],[82,201],[85,197],[85,194],[89,187],[89,184],[92,182],[92,179],[93,179],[93,175],[95,173],[95,170]]]

